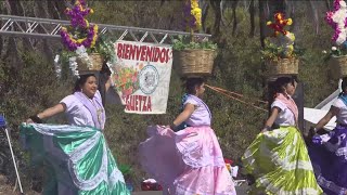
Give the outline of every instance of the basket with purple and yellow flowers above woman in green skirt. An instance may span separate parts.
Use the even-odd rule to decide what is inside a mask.
[[[101,70],[105,58],[110,60],[113,50],[105,37],[98,35],[98,25],[90,24],[86,17],[93,10],[87,6],[85,0],[76,0],[73,8],[67,8],[65,14],[70,20],[68,27],[62,27],[61,38],[67,51],[63,57],[68,61],[75,76],[79,72]]]

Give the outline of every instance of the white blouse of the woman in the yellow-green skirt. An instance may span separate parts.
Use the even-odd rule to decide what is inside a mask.
[[[273,101],[271,104],[271,109],[273,107],[279,107],[281,112],[278,115],[278,118],[274,120],[274,123],[278,126],[295,126],[295,116],[293,112],[281,101]]]

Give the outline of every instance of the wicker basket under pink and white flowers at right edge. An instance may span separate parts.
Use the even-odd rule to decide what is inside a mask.
[[[330,60],[330,70],[332,77],[343,78],[347,76],[347,55],[333,56]]]

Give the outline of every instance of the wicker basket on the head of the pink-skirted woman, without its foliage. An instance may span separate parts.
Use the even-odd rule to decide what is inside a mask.
[[[209,76],[215,57],[215,50],[174,51],[174,67],[182,77]]]

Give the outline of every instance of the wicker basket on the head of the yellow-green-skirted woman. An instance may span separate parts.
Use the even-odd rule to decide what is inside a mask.
[[[280,58],[279,61],[267,61],[266,69],[267,76],[283,76],[298,74],[298,58]]]

